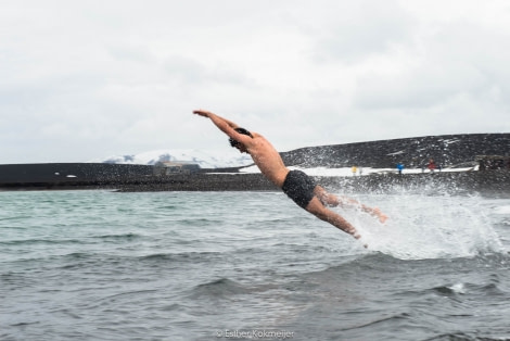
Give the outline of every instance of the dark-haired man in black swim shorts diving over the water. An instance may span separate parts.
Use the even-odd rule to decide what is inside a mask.
[[[305,173],[286,168],[280,153],[262,135],[241,128],[237,124],[205,110],[195,110],[193,113],[209,118],[229,137],[233,148],[252,156],[266,178],[281,188],[297,205],[319,219],[330,223],[356,239],[360,238],[356,228],[327,206],[355,205],[378,217],[381,223],[387,219],[387,216],[379,209],[368,207],[346,197],[337,198],[315,184],[314,179]]]

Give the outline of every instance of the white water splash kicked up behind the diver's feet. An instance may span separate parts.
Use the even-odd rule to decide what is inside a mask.
[[[374,200],[381,201],[375,203]],[[490,212],[480,198],[400,193],[359,198],[379,205],[390,216],[386,224],[346,210],[346,218],[361,233],[368,250],[401,260],[470,257],[503,252],[493,228]],[[370,202],[371,201],[371,202]]]

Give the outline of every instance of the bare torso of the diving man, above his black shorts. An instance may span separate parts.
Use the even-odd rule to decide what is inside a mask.
[[[289,169],[285,167],[280,153],[262,135],[253,132],[253,139],[246,143],[246,150],[262,174],[281,188]]]

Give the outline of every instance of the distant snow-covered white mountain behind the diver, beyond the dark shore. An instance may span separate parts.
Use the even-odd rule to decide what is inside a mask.
[[[92,160],[93,163],[154,165],[157,162],[191,162],[201,168],[241,167],[253,164],[252,157],[237,151],[155,150],[130,155]]]

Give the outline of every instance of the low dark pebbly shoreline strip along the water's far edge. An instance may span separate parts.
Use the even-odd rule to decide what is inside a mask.
[[[366,176],[314,177],[330,191],[342,193],[398,194],[401,192],[510,197],[510,172],[442,172],[435,174],[371,174]],[[0,191],[13,190],[113,190],[156,191],[280,191],[260,174],[189,174],[166,177],[103,179],[97,181],[9,184]]]

